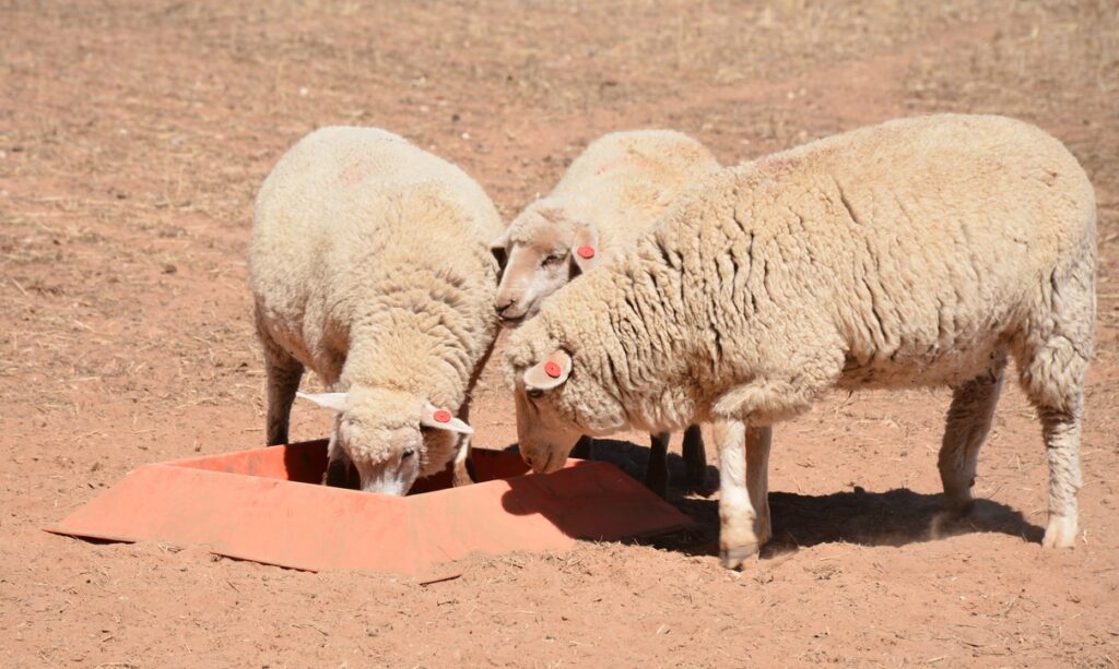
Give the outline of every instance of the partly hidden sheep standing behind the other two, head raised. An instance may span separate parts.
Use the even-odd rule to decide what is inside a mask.
[[[493,240],[502,264],[495,307],[502,325],[534,315],[549,295],[595,264],[628,249],[690,182],[720,169],[692,137],[666,130],[615,132],[592,142],[547,197],[529,204]],[[668,486],[670,434],[650,436],[646,485],[662,497]],[[573,451],[590,457],[591,440]],[[699,426],[684,432],[688,481],[707,469]]]

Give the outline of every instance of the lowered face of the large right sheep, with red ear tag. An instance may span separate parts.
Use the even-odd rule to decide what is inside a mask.
[[[520,457],[537,474],[563,467],[583,434],[605,436],[627,426],[626,413],[590,374],[572,375],[574,360],[555,351],[516,383]]]

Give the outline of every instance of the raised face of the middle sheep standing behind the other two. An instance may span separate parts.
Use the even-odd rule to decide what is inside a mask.
[[[491,242],[501,264],[493,308],[505,326],[532,317],[540,303],[598,260],[598,232],[557,209],[532,207]]]

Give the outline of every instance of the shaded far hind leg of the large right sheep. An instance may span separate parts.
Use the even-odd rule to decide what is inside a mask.
[[[987,372],[953,390],[937,460],[944,486],[944,506],[950,513],[962,515],[974,505],[971,488],[976,482],[979,448],[990,431],[1005,370],[1006,352],[997,351]]]

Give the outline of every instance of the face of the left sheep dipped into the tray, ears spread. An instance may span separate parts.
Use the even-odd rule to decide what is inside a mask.
[[[408,393],[350,389],[300,396],[338,413],[330,458],[349,459],[366,493],[407,494],[417,478],[442,471],[472,433],[450,411]]]

